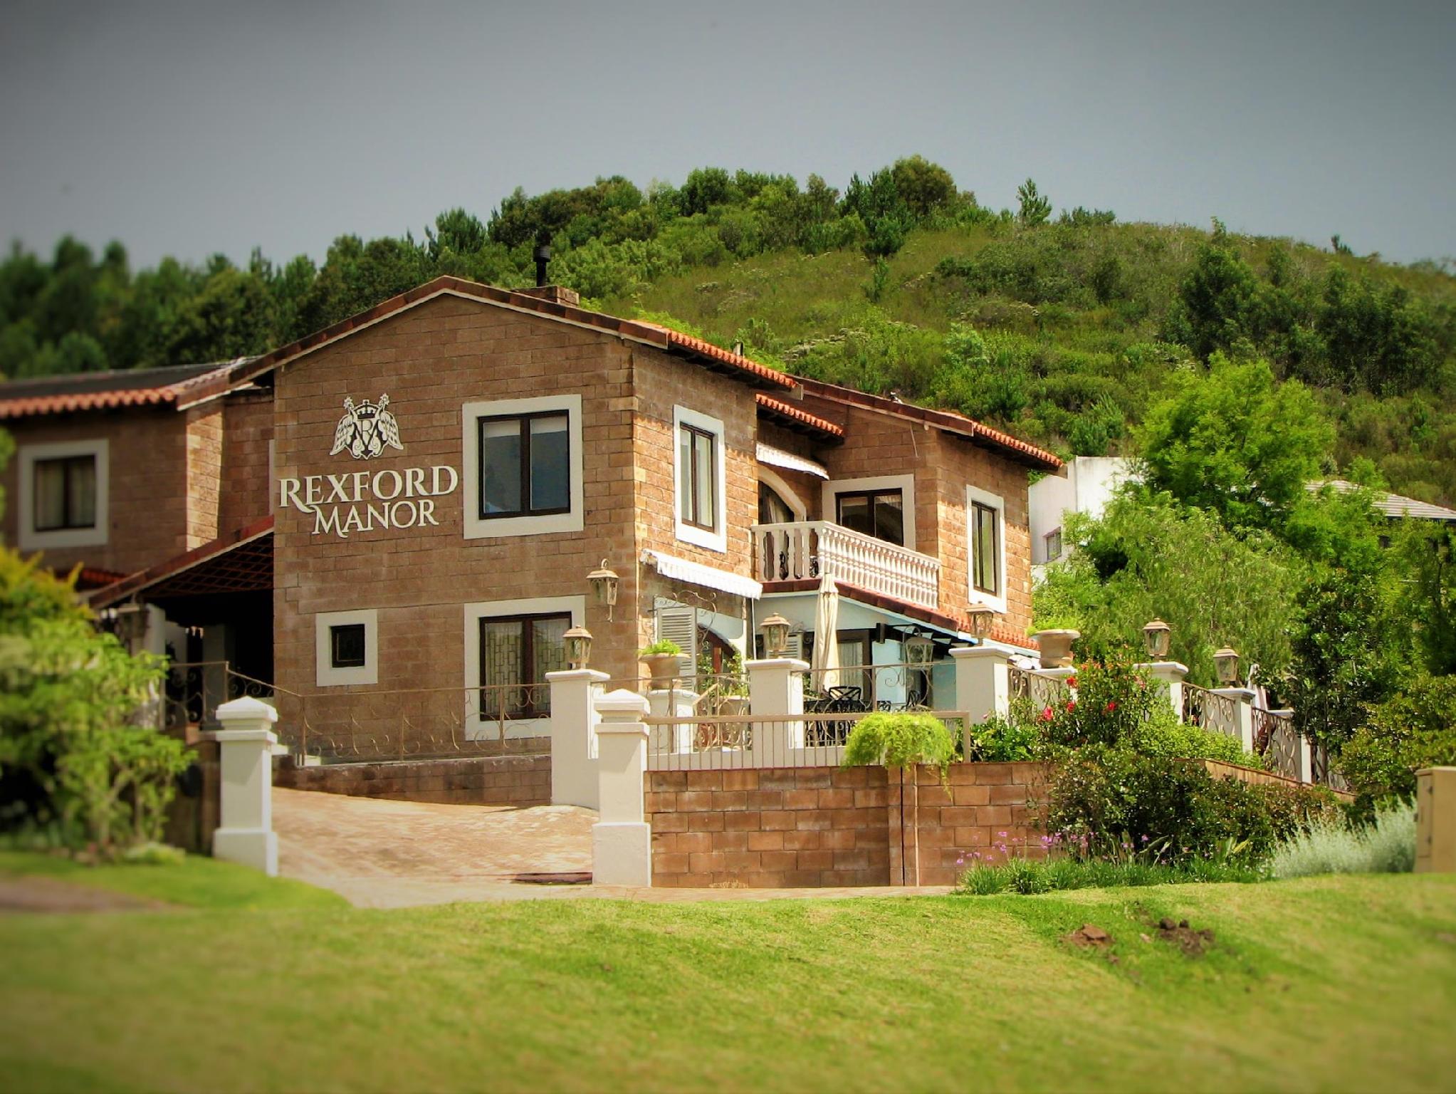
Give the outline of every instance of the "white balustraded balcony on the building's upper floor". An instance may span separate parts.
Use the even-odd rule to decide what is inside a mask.
[[[827,574],[920,607],[939,606],[938,559],[850,532],[830,520],[754,524],[753,554],[753,575],[759,581],[796,581]]]

